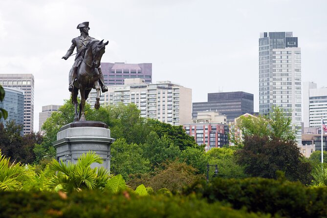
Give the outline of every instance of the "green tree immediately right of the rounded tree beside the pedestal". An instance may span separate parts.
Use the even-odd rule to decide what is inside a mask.
[[[155,132],[150,132],[147,141],[142,145],[143,156],[150,160],[152,168],[159,167],[167,160],[174,160],[180,155],[178,146],[166,135],[159,138]]]

